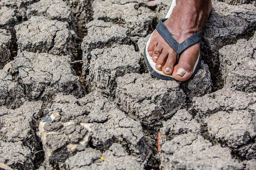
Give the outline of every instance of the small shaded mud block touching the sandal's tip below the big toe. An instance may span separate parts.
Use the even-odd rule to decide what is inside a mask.
[[[208,65],[201,61],[200,69],[196,75],[189,81],[181,82],[181,89],[186,94],[190,101],[194,97],[199,97],[211,93],[211,73]]]

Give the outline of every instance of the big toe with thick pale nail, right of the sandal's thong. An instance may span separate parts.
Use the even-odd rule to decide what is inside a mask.
[[[178,81],[188,80],[194,73],[194,66],[199,53],[200,43],[194,44],[182,52],[178,64],[174,67],[173,78]]]

